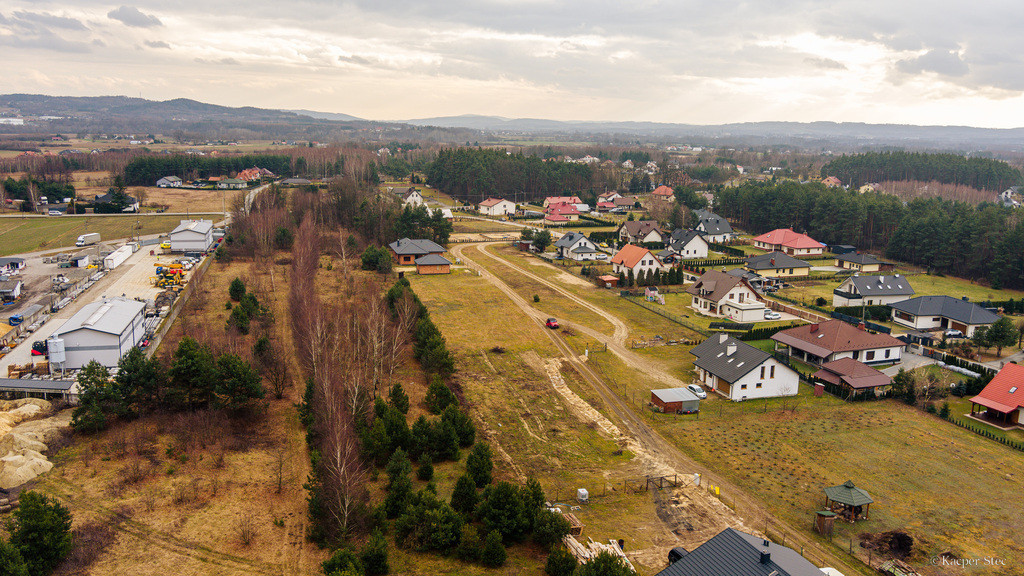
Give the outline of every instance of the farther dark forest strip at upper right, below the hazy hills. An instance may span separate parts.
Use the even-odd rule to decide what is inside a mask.
[[[841,156],[821,168],[821,176],[836,176],[854,188],[885,180],[935,180],[992,192],[1002,192],[1022,181],[1020,171],[1001,160],[920,152]]]

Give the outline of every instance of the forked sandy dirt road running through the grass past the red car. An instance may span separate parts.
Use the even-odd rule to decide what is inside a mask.
[[[676,381],[678,379],[673,378],[666,374],[663,370],[652,367],[652,362],[647,359],[641,359],[633,355],[632,352],[627,349],[623,342],[625,341],[626,334],[622,333],[621,339],[616,337],[620,334],[620,326],[625,329],[625,324],[622,320],[616,318],[614,315],[604,311],[600,306],[596,306],[593,303],[575,296],[574,294],[564,290],[557,284],[551,283],[544,280],[537,275],[530,274],[527,271],[511,264],[506,260],[490,254],[486,250],[487,244],[471,244],[463,245],[453,248],[453,253],[462,258],[467,265],[473,268],[480,272],[482,278],[486,279],[488,282],[494,284],[499,290],[505,293],[509,299],[511,299],[515,304],[524,313],[527,317],[534,319],[535,322],[543,325],[544,318],[546,315],[541,311],[532,306],[530,302],[527,302],[525,298],[520,296],[513,290],[508,284],[503,282],[500,278],[492,274],[487,269],[481,266],[480,264],[473,261],[472,257],[486,257],[498,260],[504,265],[508,266],[511,271],[516,274],[523,275],[531,280],[540,282],[545,286],[556,290],[559,294],[571,299],[573,302],[587,307],[601,317],[605,318],[615,326],[615,335],[613,335],[609,341],[608,336],[598,334],[597,332],[590,331],[588,335],[592,337],[601,337],[602,341],[608,342],[608,349],[612,351],[623,358],[631,367],[637,367],[638,370],[646,374],[659,374],[659,379],[665,381]],[[470,257],[467,257],[467,252]],[[573,326],[573,329],[583,329],[581,326]],[[831,549],[819,544],[817,541],[809,537],[805,532],[795,530],[792,526],[782,523],[780,520],[776,519],[774,516],[770,515],[768,510],[763,506],[761,501],[756,497],[743,492],[738,487],[728,482],[724,478],[720,477],[717,472],[712,471],[708,467],[696,462],[688,455],[679,450],[675,445],[668,442],[657,430],[653,429],[647,422],[638,415],[634,409],[628,405],[618,395],[616,395],[612,389],[605,383],[600,376],[598,376],[593,370],[587,366],[586,362],[582,361],[573,351],[565,343],[562,337],[552,330],[545,331],[551,338],[552,342],[558,347],[562,353],[565,361],[567,361],[572,368],[594,388],[595,392],[601,397],[605,404],[609,407],[614,419],[620,422],[620,427],[625,429],[640,446],[643,447],[647,454],[653,455],[655,458],[654,464],[656,467],[662,467],[664,465],[667,468],[677,470],[678,474],[693,474],[698,472],[701,475],[703,482],[710,482],[715,486],[721,487],[723,493],[730,495],[733,501],[733,507],[737,510],[742,510],[742,517],[738,515],[735,517],[735,525],[742,527],[745,524],[756,527],[764,527],[770,525],[770,528],[775,533],[780,533],[784,536],[786,545],[795,547],[797,549],[805,549],[807,553],[818,559],[824,559],[828,566],[837,568],[838,570],[851,576],[853,574],[868,574],[865,572],[865,568],[859,563],[854,564],[849,557],[845,554],[840,554],[834,552]],[[634,358],[627,360],[630,356]],[[682,382],[680,382],[682,384]],[[652,471],[656,471],[652,469]],[[702,495],[703,498],[714,499],[712,496],[707,495],[702,492],[696,492],[695,495]],[[752,531],[746,528],[748,531]]]

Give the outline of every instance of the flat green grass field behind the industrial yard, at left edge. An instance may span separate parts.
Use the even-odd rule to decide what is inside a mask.
[[[79,235],[98,232],[103,241],[134,234],[167,234],[182,216],[27,216],[0,218],[0,255],[74,246]]]

